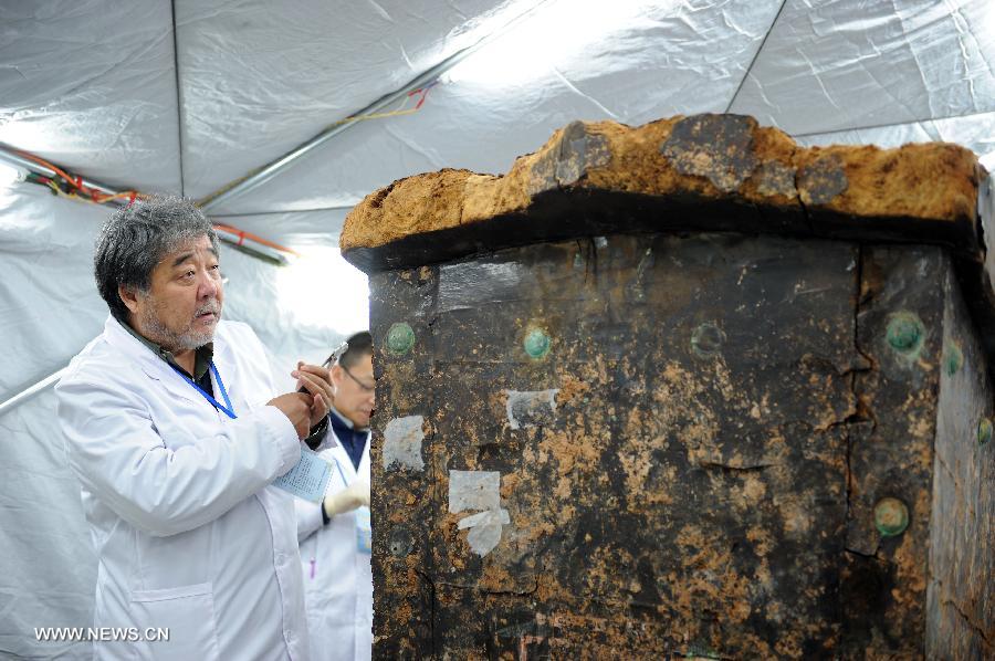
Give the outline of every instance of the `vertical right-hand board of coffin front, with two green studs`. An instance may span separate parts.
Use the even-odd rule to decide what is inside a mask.
[[[848,657],[923,651],[933,439],[944,283],[940,249],[863,250],[857,346],[872,368],[856,375],[850,428],[847,557]],[[882,535],[876,511],[897,499],[908,528]],[[887,502],[886,502],[887,504]]]

